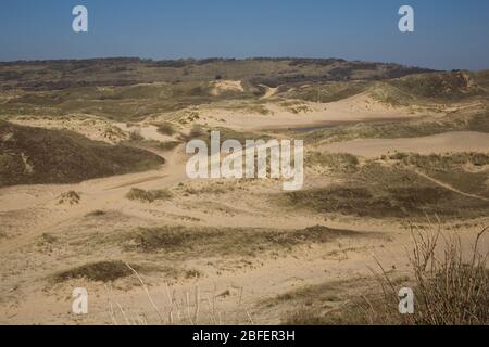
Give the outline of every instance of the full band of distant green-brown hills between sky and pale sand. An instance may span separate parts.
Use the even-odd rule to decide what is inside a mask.
[[[223,80],[240,88],[215,92]],[[241,88],[242,87],[242,88]],[[187,107],[276,99],[335,102],[368,93],[394,105],[487,100],[488,72],[432,72],[337,59],[99,59],[0,63],[0,119],[90,114],[139,121]]]

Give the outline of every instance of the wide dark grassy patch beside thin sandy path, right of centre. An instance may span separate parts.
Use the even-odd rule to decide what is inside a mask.
[[[399,154],[398,154],[399,155]],[[396,155],[393,156],[396,157]],[[429,156],[417,156],[421,162],[429,162]],[[484,155],[480,156],[484,158]],[[436,156],[435,158],[440,158]],[[459,158],[459,159],[457,159]],[[464,160],[460,162],[460,158]],[[472,190],[477,185],[479,193],[487,190],[485,179],[487,174],[471,174],[462,170],[460,165],[478,155],[455,155],[446,162],[460,162],[437,177],[450,177],[446,182],[465,188],[471,182]],[[486,216],[489,202],[459,194],[441,187],[427,178],[419,176],[412,167],[394,165],[386,166],[371,160],[359,165],[350,155],[312,154],[308,156],[308,165],[322,165],[328,168],[330,175],[346,180],[326,188],[313,188],[298,192],[285,193],[279,200],[284,206],[312,209],[322,214],[342,214],[374,218],[413,218],[425,214],[439,214],[446,218],[472,218]],[[444,172],[444,174],[443,174]],[[453,172],[459,172],[456,176]],[[344,174],[348,174],[344,177]],[[480,178],[474,181],[475,177]]]

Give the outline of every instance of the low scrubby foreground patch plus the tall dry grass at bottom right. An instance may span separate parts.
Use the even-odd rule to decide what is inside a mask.
[[[489,324],[488,255],[481,253],[484,231],[472,252],[463,252],[459,237],[446,237],[440,231],[416,230],[411,255],[411,277],[393,278],[380,265],[373,278],[325,283],[278,296],[265,303],[275,308],[287,304],[286,325],[408,324],[408,325],[487,325]],[[353,283],[362,282],[355,293]],[[414,313],[399,312],[398,292],[412,287]],[[331,296],[330,293],[341,293]],[[294,307],[294,310],[290,310]]]

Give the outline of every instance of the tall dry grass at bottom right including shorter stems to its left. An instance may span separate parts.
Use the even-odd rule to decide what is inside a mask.
[[[381,269],[379,281],[384,303],[368,300],[368,322],[373,324],[412,325],[487,325],[489,324],[489,253],[480,250],[489,228],[476,236],[469,252],[459,236],[447,236],[441,227],[412,227],[413,250],[410,257],[415,293],[413,314],[400,316],[398,290]],[[487,242],[487,241],[486,241]]]

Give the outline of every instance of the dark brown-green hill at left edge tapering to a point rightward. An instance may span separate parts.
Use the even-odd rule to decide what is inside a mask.
[[[0,187],[75,183],[148,170],[163,163],[147,151],[0,120]]]

